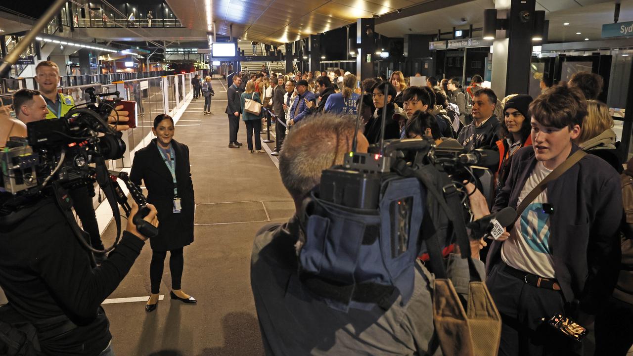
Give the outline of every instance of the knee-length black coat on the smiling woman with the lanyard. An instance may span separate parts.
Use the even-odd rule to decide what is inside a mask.
[[[158,236],[149,239],[152,250],[169,251],[194,241],[194,186],[189,170],[189,147],[172,140],[176,156],[176,181],[182,212],[173,213],[173,179],[153,139],[134,156],[130,180],[145,182],[147,202],[158,210]]]

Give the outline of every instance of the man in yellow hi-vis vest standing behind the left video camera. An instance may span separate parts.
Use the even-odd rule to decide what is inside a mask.
[[[60,68],[53,61],[42,61],[37,64],[35,67],[35,81],[46,101],[48,109],[46,118],[63,117],[75,106],[72,96],[61,94],[61,92],[57,91],[57,86],[60,82]],[[122,108],[123,106],[118,106],[115,110]],[[128,120],[127,115],[127,111],[116,111],[116,115],[113,112],[109,121],[113,121],[113,118],[118,117],[118,121],[126,122]],[[127,129],[127,125],[116,125],[116,130],[125,129]],[[73,189],[70,191],[70,195],[75,202],[75,213],[81,220],[82,228],[90,235],[92,247],[97,250],[103,250],[99,225],[97,224],[96,213],[92,205],[94,188],[85,186]],[[97,263],[101,263],[105,255],[95,253],[95,258]]]

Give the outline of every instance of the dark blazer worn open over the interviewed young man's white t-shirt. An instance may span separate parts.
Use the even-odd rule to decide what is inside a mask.
[[[580,148],[572,146],[573,154]],[[518,196],[536,166],[532,147],[512,155],[506,184],[494,200],[493,212],[517,208]],[[551,215],[549,248],[556,279],[566,302],[595,314],[611,295],[620,267],[622,191],[620,177],[601,158],[587,155],[547,185]],[[486,272],[501,260],[502,241],[494,241]]]

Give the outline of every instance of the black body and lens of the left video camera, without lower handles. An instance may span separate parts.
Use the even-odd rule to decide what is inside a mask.
[[[0,151],[4,191],[16,195],[40,194],[50,183],[66,189],[96,181],[91,163],[122,158],[125,143],[108,125],[112,106],[98,103],[94,88],[86,90],[86,108],[73,108],[65,117],[27,124],[28,139],[11,137]]]

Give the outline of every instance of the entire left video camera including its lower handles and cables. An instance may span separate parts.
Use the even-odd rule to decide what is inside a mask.
[[[122,133],[108,124],[108,117],[120,98],[118,91],[99,94],[90,87],[85,92],[89,96],[85,107],[75,106],[61,118],[29,122],[27,139],[11,137],[6,147],[1,149],[0,186],[3,194],[0,194],[0,224],[13,224],[24,219],[30,209],[48,196],[55,196],[62,210],[69,213],[71,204],[66,192],[82,186],[92,188],[97,182],[110,203],[116,222],[116,241],[105,250],[110,251],[120,236],[117,202],[122,205],[123,202],[120,199],[121,188],[116,177],[108,172],[106,160],[122,158],[126,147]],[[114,106],[101,101],[100,98],[106,96],[116,96]],[[127,175],[119,175],[119,178],[132,191],[132,198],[139,205],[139,213],[134,219],[137,229],[147,237],[156,236],[158,229],[142,220],[149,213],[149,208],[140,189],[129,181]],[[129,215],[130,210],[125,212]],[[66,217],[74,223],[71,215]],[[80,242],[91,251],[104,252],[87,245],[83,238]]]

